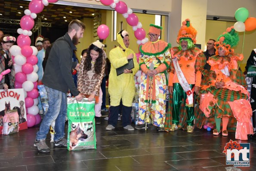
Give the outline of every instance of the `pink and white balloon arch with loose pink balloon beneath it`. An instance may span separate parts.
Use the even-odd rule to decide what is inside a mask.
[[[37,14],[43,11],[44,6],[49,3],[56,3],[58,0],[31,0],[28,9],[25,9],[25,15],[20,20],[20,26],[17,32],[20,34],[17,38],[17,45],[10,48],[10,53],[14,61],[15,69],[15,89],[24,89],[25,106],[27,113],[28,127],[38,124],[40,118],[39,108],[37,107],[38,90],[37,90],[37,48],[31,45],[30,36],[32,35],[31,29],[34,27],[34,19]],[[145,44],[148,38],[145,37],[145,30],[142,28],[141,22],[133,10],[128,8],[126,3],[120,0],[96,0],[105,6],[110,6],[116,12],[126,18],[127,23],[133,27],[134,35],[137,38],[137,44]],[[107,30],[106,30],[107,29]],[[101,27],[98,34],[102,34],[103,38],[108,37],[104,33],[109,32],[108,27]],[[105,36],[105,37],[104,37]],[[31,123],[33,122],[33,123]]]

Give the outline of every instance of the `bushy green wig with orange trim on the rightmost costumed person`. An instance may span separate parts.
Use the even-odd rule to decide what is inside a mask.
[[[219,46],[224,47],[229,53],[233,53],[234,46],[237,46],[239,42],[239,36],[235,33],[234,26],[228,27],[227,30],[218,37],[218,41],[214,43],[215,49]]]

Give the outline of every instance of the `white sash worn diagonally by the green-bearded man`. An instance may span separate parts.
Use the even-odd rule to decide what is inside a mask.
[[[178,58],[173,58],[173,65],[176,71],[176,75],[179,79],[179,83],[182,86],[182,89],[186,92],[187,98],[188,98],[188,104],[193,104],[193,93],[192,90],[188,84],[188,81],[186,80],[184,74],[182,73],[182,70],[179,67]]]

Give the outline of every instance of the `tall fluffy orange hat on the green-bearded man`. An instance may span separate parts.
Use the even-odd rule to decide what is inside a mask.
[[[177,37],[177,43],[179,43],[180,40],[186,38],[191,39],[193,43],[196,43],[196,36],[197,31],[192,25],[190,24],[190,19],[185,19],[185,21],[182,22],[182,26],[179,29],[179,34]]]

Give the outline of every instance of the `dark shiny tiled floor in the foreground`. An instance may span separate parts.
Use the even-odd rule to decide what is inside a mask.
[[[17,134],[0,135],[0,171],[256,171],[256,138],[249,138],[250,167],[225,165],[222,153],[228,137],[213,136],[205,129],[188,134],[184,130],[158,132],[126,131],[118,121],[117,128],[105,131],[107,121],[96,125],[97,149],[68,151],[49,143],[50,153],[39,153],[33,147],[39,126]],[[67,127],[67,125],[66,125]]]

